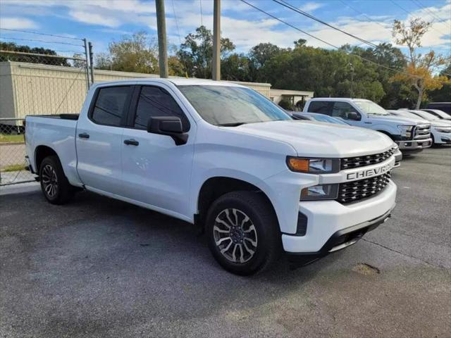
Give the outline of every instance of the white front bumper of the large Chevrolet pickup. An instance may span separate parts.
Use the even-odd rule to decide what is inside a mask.
[[[282,234],[283,249],[287,253],[307,256],[323,253],[324,248],[329,252],[331,248],[326,244],[330,244],[335,234],[364,229],[377,223],[384,215],[390,215],[395,207],[395,196],[396,185],[390,181],[379,194],[352,204],[302,201],[299,213],[307,216],[307,232],[304,236]]]

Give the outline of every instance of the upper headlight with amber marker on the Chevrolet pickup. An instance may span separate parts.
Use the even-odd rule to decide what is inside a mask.
[[[326,174],[338,173],[340,170],[339,158],[300,158],[287,157],[290,170],[297,173]]]

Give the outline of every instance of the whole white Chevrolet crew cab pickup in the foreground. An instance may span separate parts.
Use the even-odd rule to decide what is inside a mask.
[[[50,203],[81,188],[197,224],[240,275],[350,246],[395,207],[389,137],[292,120],[228,82],[96,84],[80,115],[27,116],[25,140]]]

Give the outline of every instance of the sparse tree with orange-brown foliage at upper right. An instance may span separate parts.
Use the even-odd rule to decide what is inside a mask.
[[[432,70],[436,66],[445,64],[443,56],[429,51],[425,55],[417,53],[416,49],[421,47],[421,38],[426,34],[431,23],[420,18],[410,20],[409,26],[395,20],[393,23],[393,37],[397,44],[407,46],[409,51],[407,66],[404,73],[399,73],[393,77],[394,80],[405,82],[416,89],[418,98],[416,99],[416,109],[420,108],[421,100],[426,99],[429,90],[440,89],[443,83],[449,79],[442,75],[433,75]]]

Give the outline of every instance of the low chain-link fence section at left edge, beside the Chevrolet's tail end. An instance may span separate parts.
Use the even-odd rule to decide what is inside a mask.
[[[0,118],[0,185],[33,182],[25,170],[25,127],[23,119]]]

